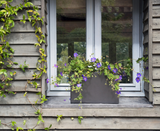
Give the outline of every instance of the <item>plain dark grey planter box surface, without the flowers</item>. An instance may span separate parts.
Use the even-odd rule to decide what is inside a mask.
[[[95,74],[96,77],[88,78],[83,84],[82,91],[82,103],[103,103],[103,104],[118,104],[119,97],[115,94],[109,83],[106,83],[106,77],[104,75]],[[78,100],[74,100],[78,96],[78,93],[71,91],[71,103],[80,103]]]

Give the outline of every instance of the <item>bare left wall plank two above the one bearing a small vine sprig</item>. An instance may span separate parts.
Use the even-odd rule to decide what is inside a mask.
[[[11,33],[7,36],[10,44],[35,44],[37,38],[35,33]]]

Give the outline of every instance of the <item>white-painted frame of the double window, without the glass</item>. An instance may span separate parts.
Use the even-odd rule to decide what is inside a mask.
[[[52,13],[51,13],[52,12]],[[136,72],[141,72],[140,64],[135,59],[143,56],[142,50],[142,10],[140,10],[139,0],[133,0],[133,29],[132,29],[132,56],[133,67]],[[94,57],[101,58],[102,35],[101,35],[101,0],[86,0],[86,59],[94,53]],[[57,20],[56,20],[56,0],[48,0],[48,78],[57,76]],[[95,37],[96,36],[96,37]],[[92,56],[93,57],[93,56]],[[135,81],[136,73],[133,72],[133,83],[121,83],[121,96],[145,96],[142,81]],[[48,96],[70,96],[70,85],[60,84],[58,88],[48,84]]]

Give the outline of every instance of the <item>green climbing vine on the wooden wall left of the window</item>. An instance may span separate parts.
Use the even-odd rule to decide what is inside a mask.
[[[34,81],[37,78],[40,78],[43,73],[46,73],[46,67],[45,65],[42,67],[42,63],[46,62],[46,54],[45,50],[42,48],[42,44],[45,43],[45,36],[42,32],[41,26],[44,24],[43,18],[40,17],[40,14],[38,13],[38,8],[33,5],[33,3],[29,2],[28,0],[24,0],[23,4],[12,6],[11,2],[13,0],[1,0],[0,1],[0,79],[2,82],[0,82],[0,96],[1,97],[6,97],[6,94],[16,94],[16,92],[9,91],[9,88],[11,86],[10,82],[13,80],[14,75],[18,75],[16,71],[14,71],[13,65],[18,65],[17,62],[13,62],[13,54],[14,54],[14,49],[11,48],[7,36],[11,33],[11,29],[14,27],[15,22],[14,22],[14,17],[18,15],[18,12],[21,10],[26,10],[26,14],[23,14],[23,19],[20,20],[20,22],[23,22],[24,24],[26,21],[31,22],[32,26],[35,28],[35,35],[37,37],[38,42],[35,43],[35,47],[39,47],[39,53],[40,53],[40,58],[37,61],[36,64],[36,71],[39,71],[37,74],[36,71],[33,74],[33,78],[31,80],[26,81],[25,85],[25,93],[24,97],[27,97],[27,100],[30,102],[29,97],[27,96],[27,91],[26,87],[28,84],[31,84],[33,87],[37,88],[38,83]],[[27,16],[27,18],[26,18]],[[22,69],[22,72],[25,72],[25,69],[28,68],[28,65],[24,62],[24,65],[19,66],[20,69]],[[8,69],[12,69],[11,71]],[[41,102],[45,102],[47,99],[45,95],[41,95],[41,92],[37,93],[37,95],[40,96]],[[38,101],[38,100],[37,100]],[[32,107],[36,110],[35,114],[38,116],[38,122],[37,125],[40,124],[41,122],[44,122],[42,118],[42,112],[40,109],[37,109],[35,104],[37,103],[31,103]],[[26,121],[24,120],[23,124],[26,124]],[[16,125],[15,121],[11,121],[9,124],[5,124],[1,122],[0,120],[0,125],[5,125],[10,127],[12,130],[14,130],[14,127]],[[34,131],[35,125],[32,129],[28,129],[28,131]],[[45,130],[49,130],[51,128],[45,128]],[[23,130],[22,127],[16,127],[16,130]]]

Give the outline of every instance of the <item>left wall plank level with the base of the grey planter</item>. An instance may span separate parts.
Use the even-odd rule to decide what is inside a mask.
[[[38,104],[40,103],[40,97],[36,95],[36,93],[27,93],[27,96],[31,103],[35,103],[36,100],[38,101]],[[24,93],[17,93],[16,95],[9,94],[6,95],[6,97],[0,97],[0,105],[9,105],[9,104],[30,104],[27,100],[27,97],[24,97]]]

